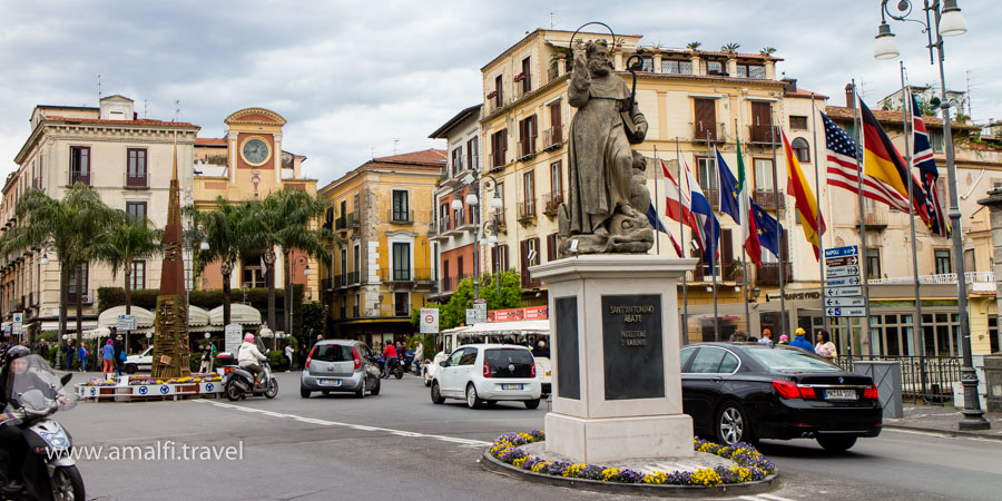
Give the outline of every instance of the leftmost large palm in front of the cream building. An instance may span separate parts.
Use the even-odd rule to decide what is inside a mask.
[[[89,186],[77,183],[62,199],[40,189],[29,189],[18,202],[14,213],[19,225],[4,236],[0,252],[10,255],[32,247],[51,247],[60,262],[59,337],[66,333],[69,305],[70,272],[76,273],[77,342],[84,330],[84,274],[81,265],[96,256],[98,239],[114,223],[115,212]]]

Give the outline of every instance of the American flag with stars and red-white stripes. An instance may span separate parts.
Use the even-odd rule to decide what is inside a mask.
[[[827,148],[827,179],[829,186],[837,186],[852,193],[859,193],[858,167],[856,155],[862,161],[863,148],[849,137],[845,130],[835,125],[827,115],[822,114],[825,124],[825,146]],[[855,153],[855,155],[854,155]],[[863,173],[863,196],[872,200],[887,204],[893,209],[908,212],[908,199],[901,196],[883,180]]]

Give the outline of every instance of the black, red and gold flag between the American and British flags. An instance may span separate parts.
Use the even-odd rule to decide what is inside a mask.
[[[859,112],[863,119],[863,174],[882,180],[884,185],[907,199],[907,176],[911,173],[905,167],[904,159],[862,99],[859,99]],[[914,183],[920,186],[917,180]],[[921,189],[912,190],[912,210],[929,226],[925,194]]]

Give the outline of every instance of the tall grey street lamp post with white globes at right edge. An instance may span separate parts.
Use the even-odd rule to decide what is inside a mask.
[[[917,22],[923,27],[923,31],[929,39],[929,57],[930,63],[933,60],[939,65],[940,70],[940,109],[943,110],[943,140],[946,149],[946,174],[950,183],[950,223],[953,230],[953,269],[956,273],[956,305],[960,313],[961,343],[963,350],[963,367],[961,369],[961,383],[964,386],[964,411],[963,419],[957,424],[961,430],[988,430],[991,423],[984,419],[984,411],[981,409],[981,402],[978,399],[978,372],[974,371],[973,357],[971,355],[971,327],[967,322],[967,284],[964,277],[964,242],[963,232],[961,230],[961,212],[960,199],[957,197],[956,184],[956,165],[953,155],[953,134],[950,125],[950,101],[946,99],[946,78],[944,76],[943,62],[943,37],[956,37],[967,31],[966,22],[956,7],[956,0],[923,0],[922,11],[925,13],[925,20],[911,19],[913,0],[900,0],[897,2],[898,13],[892,13],[887,9],[890,0],[881,1],[881,26],[876,36],[876,45],[874,46],[873,57],[876,59],[894,59],[898,56],[897,43],[894,42],[894,33],[887,24],[887,18],[895,21]],[[942,9],[941,9],[942,7]],[[935,40],[933,40],[935,35]],[[935,57],[933,55],[935,49]],[[902,96],[902,99],[905,99]],[[911,171],[911,166],[908,166]],[[916,301],[918,301],[916,298]],[[924,334],[922,334],[924,343]]]

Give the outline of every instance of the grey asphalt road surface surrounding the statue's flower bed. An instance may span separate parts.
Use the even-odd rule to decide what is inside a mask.
[[[605,494],[525,483],[481,470],[485,444],[543,425],[546,405],[469,410],[434,405],[413,376],[383,381],[377,396],[298,395],[298,374],[278,374],[279,394],[226,400],[81,403],[58,415],[82,459],[89,499],[559,499]],[[145,459],[116,458],[139,445]],[[233,448],[235,460],[202,454]],[[154,455],[159,450],[159,459]],[[174,459],[169,458],[173,451]],[[885,430],[832,458],[815,442],[767,441],[782,485],[753,499],[999,499],[1002,441]],[[626,499],[626,498],[622,498]]]

